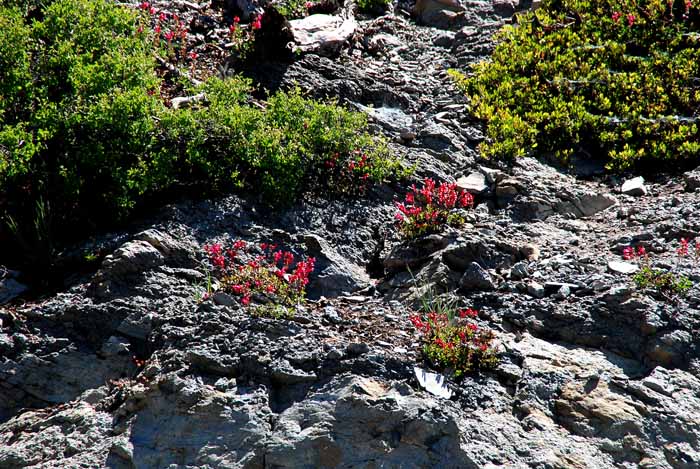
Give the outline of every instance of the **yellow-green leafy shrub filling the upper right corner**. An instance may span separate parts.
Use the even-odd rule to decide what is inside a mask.
[[[680,0],[545,0],[451,74],[487,122],[486,157],[697,161],[699,24]]]

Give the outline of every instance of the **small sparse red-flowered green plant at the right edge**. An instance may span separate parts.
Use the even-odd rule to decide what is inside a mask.
[[[688,240],[681,238],[680,247],[676,250],[679,258],[688,255]],[[696,258],[700,258],[700,241],[695,244]],[[659,292],[663,297],[672,299],[674,296],[683,296],[693,286],[693,283],[684,275],[677,275],[673,272],[654,269],[649,262],[649,255],[644,246],[627,246],[622,251],[625,260],[638,259],[639,271],[634,274],[632,280],[640,289],[651,288]]]

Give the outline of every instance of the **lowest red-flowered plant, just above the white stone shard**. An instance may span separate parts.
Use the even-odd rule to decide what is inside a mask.
[[[493,332],[470,321],[477,315],[476,310],[467,308],[452,314],[416,314],[409,319],[422,335],[423,355],[431,365],[461,378],[469,371],[493,368],[498,363]]]

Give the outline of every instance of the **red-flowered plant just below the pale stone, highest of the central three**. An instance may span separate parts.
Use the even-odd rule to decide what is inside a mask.
[[[398,228],[405,238],[415,239],[419,236],[437,233],[448,226],[460,226],[464,217],[459,208],[470,208],[474,198],[467,191],[458,192],[454,183],[440,183],[426,178],[421,189],[415,184],[406,194],[405,203],[397,203],[396,214]]]

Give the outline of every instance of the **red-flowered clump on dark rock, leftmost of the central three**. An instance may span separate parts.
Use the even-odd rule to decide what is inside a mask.
[[[220,288],[240,298],[256,315],[291,317],[292,309],[303,303],[309,275],[316,260],[297,260],[290,251],[275,244],[260,246],[235,241],[230,248],[221,244],[205,245]]]

